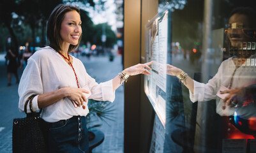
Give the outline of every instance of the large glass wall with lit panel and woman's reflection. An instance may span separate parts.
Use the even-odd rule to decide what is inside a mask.
[[[255,3],[158,1],[145,25],[150,152],[256,152]]]

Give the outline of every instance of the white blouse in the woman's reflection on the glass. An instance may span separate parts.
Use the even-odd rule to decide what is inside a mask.
[[[234,107],[226,106],[225,110],[222,110],[223,101],[216,96],[216,93],[218,92],[218,89],[220,89],[221,85],[229,87],[235,68],[236,65],[232,61],[232,57],[230,57],[222,62],[215,77],[211,78],[207,84],[202,84],[194,80],[194,89],[193,93],[190,91],[190,100],[195,102],[216,99],[216,113],[221,116],[233,115]],[[255,82],[255,66],[239,66],[234,73],[233,83],[230,89],[246,87],[248,85],[255,84]]]

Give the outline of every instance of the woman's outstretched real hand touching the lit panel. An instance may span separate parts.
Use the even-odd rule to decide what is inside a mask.
[[[151,62],[146,62],[144,64],[137,64],[135,66],[131,66],[129,68],[124,69],[124,72],[127,75],[139,75],[139,74],[144,74],[144,75],[151,75],[151,73],[147,69],[149,68],[149,65],[151,65],[153,61]]]

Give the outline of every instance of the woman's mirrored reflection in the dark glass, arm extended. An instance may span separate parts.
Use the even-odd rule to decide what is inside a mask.
[[[243,87],[255,84],[256,82],[256,72],[250,71],[251,65],[248,66],[245,63],[246,58],[255,59],[255,55],[247,54],[248,52],[252,53],[251,50],[245,49],[248,47],[245,46],[245,43],[255,44],[256,41],[255,17],[255,11],[250,8],[236,8],[230,13],[229,27],[225,32],[230,41],[230,48],[237,48],[238,52],[222,62],[215,77],[211,78],[207,84],[197,82],[188,77],[182,69],[167,64],[167,74],[177,76],[183,82],[190,91],[191,101],[216,99],[216,113],[220,116],[234,114],[235,106],[237,105],[235,100],[237,92],[241,91]],[[220,92],[220,94],[227,94],[223,99],[216,96],[222,86],[227,88],[227,90]]]

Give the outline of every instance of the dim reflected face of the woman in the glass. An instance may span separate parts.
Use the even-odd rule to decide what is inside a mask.
[[[234,47],[239,47],[243,41],[249,41],[248,37],[243,33],[243,29],[249,28],[249,18],[243,14],[234,14],[229,18],[229,27],[227,36],[230,43]]]

